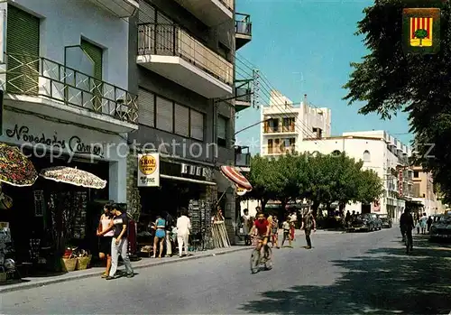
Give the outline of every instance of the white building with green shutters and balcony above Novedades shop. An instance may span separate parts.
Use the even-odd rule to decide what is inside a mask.
[[[90,200],[125,202],[126,134],[138,129],[136,96],[128,92],[126,18],[138,4],[13,0],[0,9],[5,92],[0,142],[32,153],[37,171],[69,165],[94,172],[107,188],[88,192]],[[51,184],[41,181],[30,190],[47,193]],[[34,208],[33,201],[23,202],[23,208]]]

